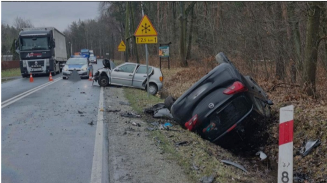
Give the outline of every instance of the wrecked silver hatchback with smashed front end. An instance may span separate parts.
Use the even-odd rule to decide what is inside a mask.
[[[100,86],[118,85],[146,89],[146,65],[126,62],[115,67],[108,59],[103,59],[102,69],[94,75]],[[149,93],[156,95],[163,87],[163,74],[159,68],[149,66]]]

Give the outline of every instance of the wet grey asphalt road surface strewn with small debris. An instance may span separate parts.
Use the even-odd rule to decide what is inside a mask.
[[[93,67],[95,72],[103,66],[98,62]],[[61,73],[53,79],[59,77]],[[1,102],[48,79],[1,84]],[[100,87],[92,81],[61,79],[0,109],[0,182],[89,183],[99,96]]]

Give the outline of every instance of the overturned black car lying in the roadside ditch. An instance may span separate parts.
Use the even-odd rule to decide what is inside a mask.
[[[177,123],[213,143],[222,141],[229,132],[244,131],[244,121],[252,114],[267,119],[269,105],[273,104],[263,89],[250,76],[240,74],[224,53],[218,53],[216,61],[220,64],[180,98],[165,99]],[[253,117],[250,123],[251,120]]]

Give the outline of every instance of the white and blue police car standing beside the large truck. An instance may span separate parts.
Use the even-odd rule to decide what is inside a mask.
[[[81,78],[89,78],[90,72],[93,76],[92,64],[85,57],[70,57],[67,60],[66,65],[62,68],[62,78],[67,79],[74,69],[76,69],[77,73]]]

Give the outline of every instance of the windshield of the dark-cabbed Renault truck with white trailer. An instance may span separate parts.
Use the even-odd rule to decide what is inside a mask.
[[[22,38],[21,50],[48,50],[49,49],[48,38]]]

